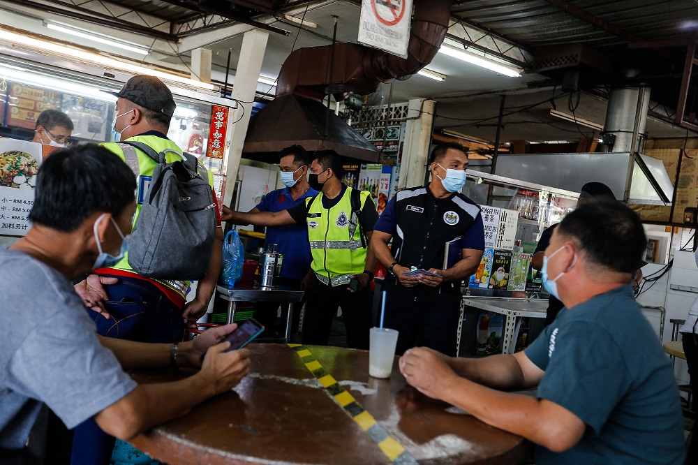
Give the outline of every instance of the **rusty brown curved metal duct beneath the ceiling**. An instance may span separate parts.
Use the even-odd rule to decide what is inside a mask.
[[[349,91],[370,94],[380,82],[406,80],[436,55],[446,36],[450,14],[450,0],[415,0],[406,59],[363,45],[336,44],[329,78],[325,70],[332,46],[295,50],[281,66],[276,96],[299,94],[322,100],[331,85],[336,100],[341,101]]]

